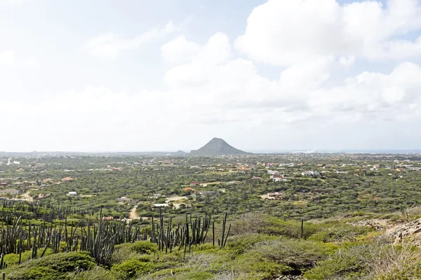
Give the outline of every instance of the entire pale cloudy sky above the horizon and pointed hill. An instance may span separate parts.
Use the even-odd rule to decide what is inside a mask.
[[[421,149],[421,1],[0,0],[0,151]]]

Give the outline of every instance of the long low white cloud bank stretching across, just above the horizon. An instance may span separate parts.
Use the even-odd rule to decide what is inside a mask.
[[[269,80],[258,74],[253,62],[232,59],[214,65],[207,83],[196,87],[178,84],[136,94],[87,87],[37,102],[0,100],[2,129],[15,132],[13,142],[6,141],[6,149],[24,145],[37,150],[141,151],[168,145],[168,139],[177,139],[175,145],[180,145],[188,132],[203,127],[208,134],[268,135],[281,130],[296,137],[312,127],[334,131],[353,124],[382,127],[394,123],[389,127],[392,130],[421,121],[421,68],[417,64],[402,63],[390,73],[359,73],[340,86],[328,87],[328,70],[334,64],[333,60],[300,64]],[[20,130],[15,130],[16,123]],[[307,132],[300,132],[303,129]],[[27,134],[44,137],[25,144]],[[46,136],[55,141],[46,143]]]

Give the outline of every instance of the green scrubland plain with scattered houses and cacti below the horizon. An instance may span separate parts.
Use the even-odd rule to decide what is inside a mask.
[[[420,155],[34,153],[0,183],[6,279],[421,275]]]

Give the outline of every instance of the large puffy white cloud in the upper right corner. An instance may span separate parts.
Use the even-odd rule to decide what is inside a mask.
[[[256,7],[236,48],[257,62],[290,65],[323,56],[420,57],[420,39],[399,39],[421,28],[417,0],[353,2],[269,0]]]

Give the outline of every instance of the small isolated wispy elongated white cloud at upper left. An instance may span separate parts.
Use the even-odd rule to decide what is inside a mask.
[[[100,34],[88,40],[83,45],[83,49],[88,50],[91,55],[106,58],[119,57],[122,50],[134,50],[140,48],[146,43],[165,38],[180,27],[175,26],[173,22],[168,22],[165,27],[158,29],[152,28],[135,38],[127,39],[114,33]]]

